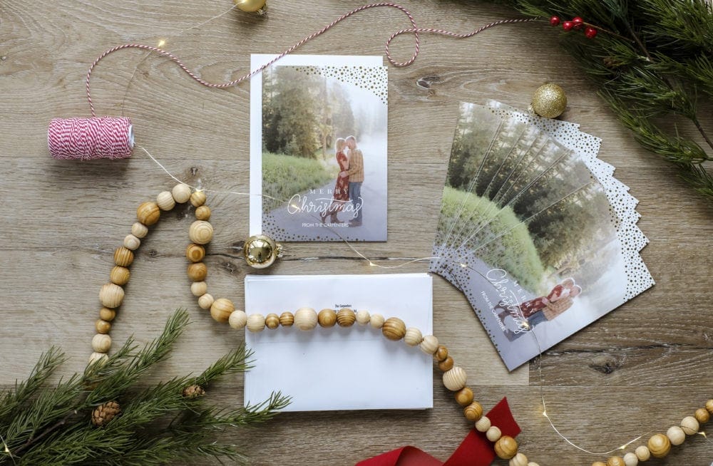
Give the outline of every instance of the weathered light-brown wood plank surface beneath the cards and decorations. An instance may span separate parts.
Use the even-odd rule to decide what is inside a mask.
[[[140,151],[130,160],[81,165],[48,156],[48,121],[88,115],[83,80],[91,61],[120,43],[165,39],[166,48],[200,76],[228,81],[247,73],[250,53],[282,51],[358,4],[270,0],[268,19],[231,11],[190,29],[230,2],[0,2],[0,385],[24,377],[51,344],[70,358],[65,373],[83,368],[113,250],[130,232],[138,204],[174,184]],[[513,16],[470,1],[404,4],[419,25],[456,31]],[[380,54],[389,33],[406,26],[396,11],[366,11],[299,52]],[[665,432],[713,395],[713,209],[670,165],[637,146],[555,36],[543,24],[502,26],[467,41],[424,36],[413,66],[390,68],[389,241],[359,249],[375,259],[429,255],[459,101],[496,98],[525,108],[540,83],[563,86],[570,102],[563,118],[603,138],[600,157],[617,167],[617,177],[640,200],[639,224],[651,240],[643,257],[657,280],[542,359],[548,413],[558,428],[590,450],[610,450],[645,432]],[[412,46],[404,36],[392,53],[406,59]],[[93,98],[100,115],[130,116],[138,143],[181,179],[247,192],[247,85],[208,90],[163,58],[124,51],[96,68]],[[713,113],[702,116],[703,125],[713,128]],[[248,269],[240,258],[247,198],[215,195],[208,204],[215,227],[205,258],[210,292],[238,308],[247,273],[383,272],[343,244],[289,244],[270,271]],[[199,371],[243,339],[213,322],[190,292],[184,252],[193,218],[185,207],[162,217],[142,239],[111,336],[115,345],[131,334],[148,341],[179,306],[190,309],[194,323],[173,358],[147,382]],[[411,264],[398,271],[425,269]],[[544,466],[605,459],[557,437],[541,415],[535,365],[507,373],[466,299],[439,277],[434,288],[436,335],[468,372],[486,410],[508,396],[523,427],[518,442],[530,460]],[[240,404],[242,378],[209,392],[219,403]],[[245,446],[253,465],[352,465],[405,444],[445,459],[469,425],[440,377],[434,377],[434,398],[434,410],[427,411],[289,413],[231,438]],[[657,464],[707,466],[712,457],[713,443],[695,436]]]

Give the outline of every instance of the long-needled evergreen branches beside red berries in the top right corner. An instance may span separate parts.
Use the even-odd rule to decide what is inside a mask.
[[[698,118],[713,103],[713,5],[706,0],[493,0],[545,19],[581,16],[600,29],[594,40],[561,33],[562,45],[600,87],[622,123],[648,150],[681,169],[695,190],[713,199],[705,162],[713,141]],[[681,116],[704,145],[679,135]],[[707,146],[707,149],[704,147]]]

